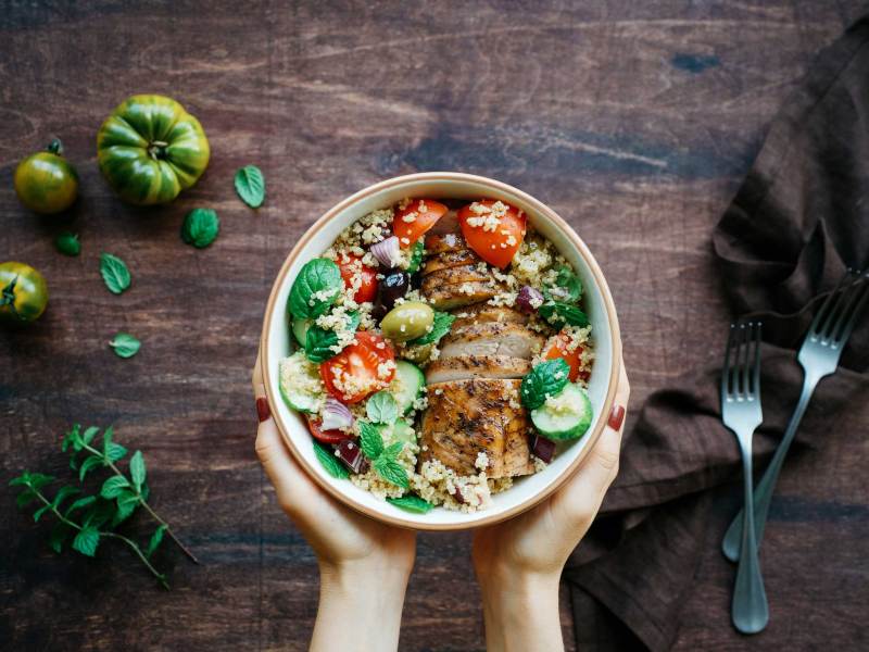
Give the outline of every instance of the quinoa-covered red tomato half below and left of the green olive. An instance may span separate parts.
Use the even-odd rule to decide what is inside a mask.
[[[344,403],[358,403],[383,389],[395,375],[395,353],[387,340],[367,330],[356,341],[319,365],[319,375],[329,393]],[[380,371],[380,365],[388,364]]]

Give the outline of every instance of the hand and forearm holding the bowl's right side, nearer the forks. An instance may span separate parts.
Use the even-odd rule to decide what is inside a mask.
[[[616,401],[594,448],[553,496],[474,535],[487,650],[559,650],[558,580],[618,473],[630,385],[621,364]]]

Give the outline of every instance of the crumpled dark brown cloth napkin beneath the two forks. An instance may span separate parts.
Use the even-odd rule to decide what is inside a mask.
[[[788,99],[711,244],[722,285],[709,292],[723,291],[734,316],[764,318],[765,422],[754,441],[763,469],[799,393],[795,350],[813,298],[846,268],[869,265],[869,16],[820,53]],[[866,399],[868,372],[864,315],[839,373],[819,385],[795,448],[836,436],[828,419]],[[656,391],[626,436],[602,515],[564,574],[578,649],[672,645],[701,556],[719,547],[736,504],[739,450],[720,423],[719,374],[694,372]]]

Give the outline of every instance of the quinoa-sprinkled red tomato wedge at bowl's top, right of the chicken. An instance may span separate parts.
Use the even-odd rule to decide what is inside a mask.
[[[506,211],[492,211],[495,204],[506,206]],[[491,226],[487,223],[487,217],[493,215],[498,217],[498,224]],[[525,239],[525,213],[502,201],[491,199],[481,199],[458,211],[458,224],[462,226],[462,235],[468,247],[487,263],[501,268],[509,265],[519,250]]]

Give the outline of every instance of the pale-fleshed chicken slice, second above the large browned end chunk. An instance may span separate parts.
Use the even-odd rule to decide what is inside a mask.
[[[530,359],[545,338],[521,324],[483,322],[455,328],[441,340],[441,358],[456,355],[507,355]]]

